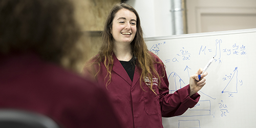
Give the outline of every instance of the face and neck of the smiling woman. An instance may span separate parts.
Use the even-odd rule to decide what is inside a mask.
[[[128,9],[120,9],[114,19],[111,34],[114,38],[114,51],[119,60],[129,61],[132,58],[131,42],[137,28],[137,16]]]

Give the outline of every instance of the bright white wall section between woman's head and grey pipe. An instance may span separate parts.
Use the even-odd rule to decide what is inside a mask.
[[[172,35],[170,0],[129,0],[140,16],[144,37]]]

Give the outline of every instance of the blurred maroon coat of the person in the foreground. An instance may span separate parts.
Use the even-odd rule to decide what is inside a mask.
[[[105,91],[34,54],[0,55],[0,109],[44,114],[65,128],[121,127]]]

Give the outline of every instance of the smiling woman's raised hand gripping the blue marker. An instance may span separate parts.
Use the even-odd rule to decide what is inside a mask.
[[[202,73],[203,73],[203,69],[200,68],[195,75],[191,75],[190,76],[190,78],[189,78],[189,86],[190,86],[190,94],[189,94],[189,96],[197,93],[205,85],[206,79],[204,77],[207,76],[208,73],[207,72],[204,72],[204,74],[202,74]],[[202,74],[201,75],[201,79],[198,79],[198,75],[199,74]]]

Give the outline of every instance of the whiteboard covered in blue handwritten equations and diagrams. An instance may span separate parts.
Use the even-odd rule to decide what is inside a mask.
[[[145,38],[147,48],[166,66],[169,93],[189,76],[207,69],[201,98],[183,115],[163,118],[167,127],[256,127],[256,29]]]

